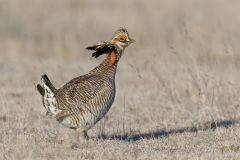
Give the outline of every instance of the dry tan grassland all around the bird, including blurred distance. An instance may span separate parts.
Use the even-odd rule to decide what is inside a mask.
[[[0,0],[0,159],[240,159],[237,0]],[[78,144],[45,116],[57,87],[100,60],[84,48],[120,26],[137,41],[110,112]]]

